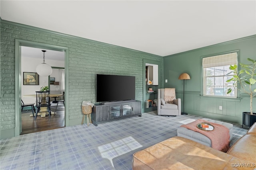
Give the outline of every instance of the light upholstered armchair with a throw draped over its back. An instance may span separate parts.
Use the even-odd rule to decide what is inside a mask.
[[[175,88],[166,88],[169,91],[172,91],[172,102],[165,101],[164,94],[165,94],[165,89],[160,88],[158,89],[158,99],[157,99],[157,114],[158,115],[181,115],[181,100],[176,99],[176,94],[175,94]],[[167,92],[167,90],[166,90]],[[172,103],[172,104],[170,104]]]

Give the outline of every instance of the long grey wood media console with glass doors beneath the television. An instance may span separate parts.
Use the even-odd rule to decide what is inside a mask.
[[[141,101],[132,100],[113,104],[95,104],[92,108],[92,124],[124,119],[127,117],[141,117]]]

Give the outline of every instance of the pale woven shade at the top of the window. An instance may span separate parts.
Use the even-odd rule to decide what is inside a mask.
[[[213,57],[205,57],[202,60],[203,68],[226,66],[237,64],[237,53],[228,53],[224,55],[216,55]]]

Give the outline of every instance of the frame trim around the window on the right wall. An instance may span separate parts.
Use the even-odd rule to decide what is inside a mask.
[[[200,69],[200,73],[201,73],[201,78],[200,78],[200,96],[202,97],[213,97],[213,98],[227,98],[227,99],[236,99],[236,98],[240,98],[240,90],[237,90],[237,97],[228,97],[228,96],[213,96],[213,95],[205,95],[204,96],[204,68],[203,68],[203,64],[202,64],[202,61],[203,61],[203,58],[205,57],[214,57],[216,55],[225,55],[225,54],[228,54],[228,53],[237,53],[237,69],[240,70],[240,50],[234,50],[234,51],[226,51],[226,52],[223,52],[223,53],[214,53],[214,54],[210,54],[210,55],[204,55],[204,56],[201,56],[200,57],[200,66],[201,66],[201,69]],[[240,86],[238,84],[238,86]]]

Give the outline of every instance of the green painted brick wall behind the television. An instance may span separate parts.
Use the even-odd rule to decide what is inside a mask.
[[[69,48],[70,120],[82,119],[82,101],[96,102],[96,74],[136,76],[136,100],[143,101],[143,59],[159,61],[163,68],[163,57],[157,55],[4,20],[0,25],[0,130],[15,126],[15,39]],[[161,85],[162,69],[160,75]]]

